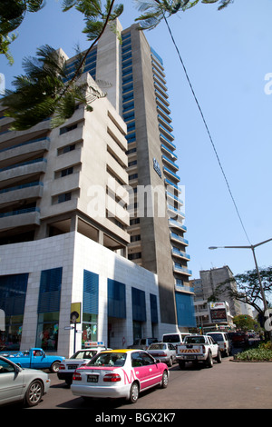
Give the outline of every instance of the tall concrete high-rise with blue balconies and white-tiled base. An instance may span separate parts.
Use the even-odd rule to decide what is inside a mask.
[[[92,112],[79,104],[62,126],[48,120],[24,132],[0,119],[0,301],[15,276],[25,310],[9,306],[8,328],[24,347],[41,341],[50,318],[54,350],[72,352],[73,333],[63,328],[71,303],[89,298],[85,271],[98,276],[98,308],[85,308],[96,340],[116,347],[194,326],[163,63],[137,25],[117,27],[122,44],[108,28],[86,60],[82,82],[100,94]],[[72,76],[75,58],[59,52]],[[126,295],[122,312],[109,316],[107,286]]]

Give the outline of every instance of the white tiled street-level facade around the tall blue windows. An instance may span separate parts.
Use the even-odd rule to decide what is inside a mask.
[[[161,337],[169,325],[157,323],[151,326],[150,294],[159,299],[158,278],[142,267],[124,259],[121,255],[96,243],[82,233],[65,233],[35,242],[14,243],[0,246],[1,275],[28,273],[27,293],[25,295],[23,334],[21,348],[27,349],[37,343],[38,301],[40,276],[42,271],[62,268],[60,312],[58,320],[57,353],[66,357],[73,353],[73,331],[64,330],[70,326],[71,303],[83,303],[83,271],[99,276],[99,304],[97,313],[97,333],[92,341],[103,341],[113,348],[125,347],[133,342],[131,288],[145,294],[146,322],[144,336]],[[16,263],[15,263],[16,260]],[[106,260],[106,263],[105,263]],[[124,283],[126,292],[126,317],[108,319],[107,280]],[[159,309],[159,303],[158,303]],[[160,309],[159,309],[160,310]],[[158,311],[160,319],[160,311]],[[108,325],[111,331],[108,335]],[[83,330],[83,323],[77,325]],[[76,349],[82,347],[82,333],[76,335]],[[50,349],[49,349],[50,350]]]

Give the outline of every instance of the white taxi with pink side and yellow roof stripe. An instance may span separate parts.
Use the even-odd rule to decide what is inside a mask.
[[[160,385],[166,388],[169,371],[141,350],[112,350],[98,353],[73,373],[71,390],[83,398],[125,398],[134,403],[139,393]]]

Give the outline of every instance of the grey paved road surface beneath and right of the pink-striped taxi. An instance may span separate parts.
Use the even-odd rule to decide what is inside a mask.
[[[214,363],[213,368],[180,370],[177,364],[170,368],[167,389],[156,389],[141,394],[138,402],[93,400],[83,402],[56,374],[50,373],[51,388],[43,402],[34,409],[92,409],[103,412],[119,410],[168,409],[271,409],[272,363],[232,362],[232,357]]]

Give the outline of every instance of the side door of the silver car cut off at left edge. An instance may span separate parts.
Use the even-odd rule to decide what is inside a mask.
[[[15,364],[0,359],[0,404],[16,402],[23,397],[24,372]]]

